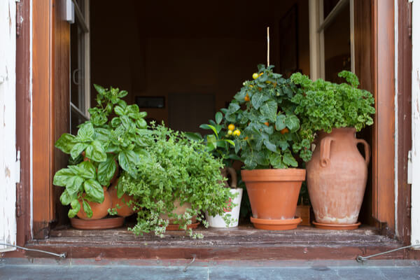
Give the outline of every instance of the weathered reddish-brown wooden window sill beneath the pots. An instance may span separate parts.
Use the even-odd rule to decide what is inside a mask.
[[[354,260],[402,246],[368,226],[358,230],[256,230],[252,225],[231,229],[198,228],[204,239],[190,239],[184,232],[167,232],[164,238],[135,236],[125,228],[113,230],[52,230],[49,239],[29,241],[29,248],[66,253],[67,258],[136,258],[202,260]],[[45,257],[27,252],[31,257]],[[404,251],[381,255],[402,259]]]

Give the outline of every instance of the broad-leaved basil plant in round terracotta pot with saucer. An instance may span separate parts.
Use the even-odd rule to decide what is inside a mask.
[[[71,160],[83,158],[83,162],[60,169],[54,176],[53,183],[65,187],[60,202],[71,206],[68,216],[72,224],[80,223],[75,216],[94,221],[107,216],[109,209],[126,207],[116,197],[116,192],[111,192],[112,197],[107,188],[115,181],[118,167],[136,177],[137,171],[133,167],[144,160],[146,113],[140,112],[137,105],[127,105],[123,101],[126,91],[112,87],[106,90],[99,85],[94,87],[98,92],[97,106],[89,109],[90,120],[80,125],[76,136],[65,133],[55,143],[57,148],[71,156]],[[115,116],[109,120],[112,114]],[[122,214],[123,211],[119,213],[118,209],[114,212]],[[123,210],[125,213],[121,216],[130,213]],[[123,219],[118,221],[121,223]],[[90,224],[97,227],[97,223]],[[109,221],[104,221],[107,223]],[[83,226],[89,227],[89,223]]]

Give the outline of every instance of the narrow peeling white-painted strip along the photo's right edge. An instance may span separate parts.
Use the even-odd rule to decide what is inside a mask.
[[[420,0],[412,1],[412,236],[420,244]]]

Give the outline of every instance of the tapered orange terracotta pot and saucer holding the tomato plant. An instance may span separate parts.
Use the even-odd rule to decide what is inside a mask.
[[[289,230],[297,227],[300,218],[295,221],[295,212],[304,169],[241,170],[241,176],[251,202],[251,222],[255,228]],[[270,223],[266,223],[267,220],[271,220]],[[288,223],[284,220],[290,220],[293,226],[283,228],[281,225]]]

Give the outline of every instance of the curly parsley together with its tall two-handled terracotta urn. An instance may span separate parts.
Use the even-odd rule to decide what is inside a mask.
[[[354,73],[338,74],[346,83],[330,83],[294,73],[297,85],[293,102],[302,127],[316,133],[316,148],[307,163],[307,187],[319,228],[358,228],[358,214],[367,180],[370,148],[356,131],[372,125],[374,99],[370,92],[358,89]],[[365,158],[357,145],[365,146]]]

